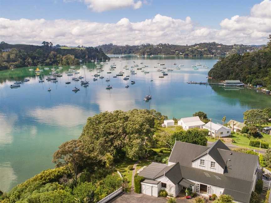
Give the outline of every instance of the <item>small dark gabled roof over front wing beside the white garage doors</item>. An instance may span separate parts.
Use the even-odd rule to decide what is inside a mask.
[[[158,173],[155,176],[155,178],[158,178],[164,174],[174,185],[176,185],[178,182],[180,182],[183,179],[179,162],[176,164],[167,166],[165,169],[160,171],[160,173]]]

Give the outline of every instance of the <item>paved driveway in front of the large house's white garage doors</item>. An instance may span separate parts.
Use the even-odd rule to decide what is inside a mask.
[[[165,197],[153,197],[150,195],[137,193],[122,193],[122,195],[115,197],[110,203],[166,203]],[[192,203],[192,200],[176,199],[176,203]]]

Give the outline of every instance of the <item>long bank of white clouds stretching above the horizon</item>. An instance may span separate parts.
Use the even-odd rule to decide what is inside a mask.
[[[223,44],[266,44],[266,38],[271,33],[271,16],[268,12],[270,7],[271,0],[265,0],[254,5],[249,16],[236,15],[222,20],[220,29],[196,26],[190,17],[174,19],[160,14],[140,22],[122,18],[116,23],[0,18],[0,38],[8,43],[41,44],[42,41],[51,41],[54,44],[73,46],[108,43],[194,44],[213,41]]]

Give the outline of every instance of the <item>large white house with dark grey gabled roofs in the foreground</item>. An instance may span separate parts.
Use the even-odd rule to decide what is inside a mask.
[[[231,195],[235,202],[249,203],[257,182],[257,155],[231,151],[221,140],[210,147],[176,141],[168,164],[152,162],[138,175],[143,194],[158,196],[164,189],[178,196],[181,190],[208,197]]]

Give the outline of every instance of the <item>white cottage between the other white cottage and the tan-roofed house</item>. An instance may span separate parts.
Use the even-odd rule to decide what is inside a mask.
[[[231,128],[219,123],[208,122],[203,126],[203,129],[209,130],[209,135],[212,137],[227,137],[231,135]]]

